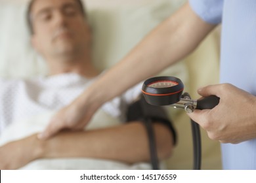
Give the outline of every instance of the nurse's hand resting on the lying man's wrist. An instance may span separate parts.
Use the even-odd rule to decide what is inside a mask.
[[[37,137],[46,140],[62,129],[81,130],[88,124],[99,107],[100,104],[96,105],[95,99],[93,102],[93,99],[87,99],[81,95],[70,105],[59,110],[51,118],[45,131],[39,133]]]

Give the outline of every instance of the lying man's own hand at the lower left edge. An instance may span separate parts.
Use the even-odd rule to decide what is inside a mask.
[[[0,169],[18,169],[37,159],[41,154],[39,140],[31,135],[0,147]]]

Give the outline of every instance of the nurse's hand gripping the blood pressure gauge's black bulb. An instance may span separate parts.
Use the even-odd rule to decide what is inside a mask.
[[[217,84],[198,90],[203,97],[220,97],[219,105],[188,114],[207,131],[210,139],[238,143],[256,138],[256,97],[232,84]]]

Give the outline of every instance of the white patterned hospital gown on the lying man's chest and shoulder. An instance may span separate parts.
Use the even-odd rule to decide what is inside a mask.
[[[30,80],[0,80],[0,135],[13,122],[68,105],[93,80],[95,78],[87,79],[75,73]],[[138,85],[128,90],[121,97],[103,105],[102,109],[123,120],[125,105],[138,97],[140,88]]]

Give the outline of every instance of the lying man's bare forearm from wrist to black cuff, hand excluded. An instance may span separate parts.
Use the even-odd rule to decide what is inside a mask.
[[[167,158],[172,150],[169,129],[154,124],[160,159]],[[108,129],[62,132],[41,142],[38,158],[85,157],[102,158],[135,163],[150,159],[146,129],[140,122],[132,122]]]

